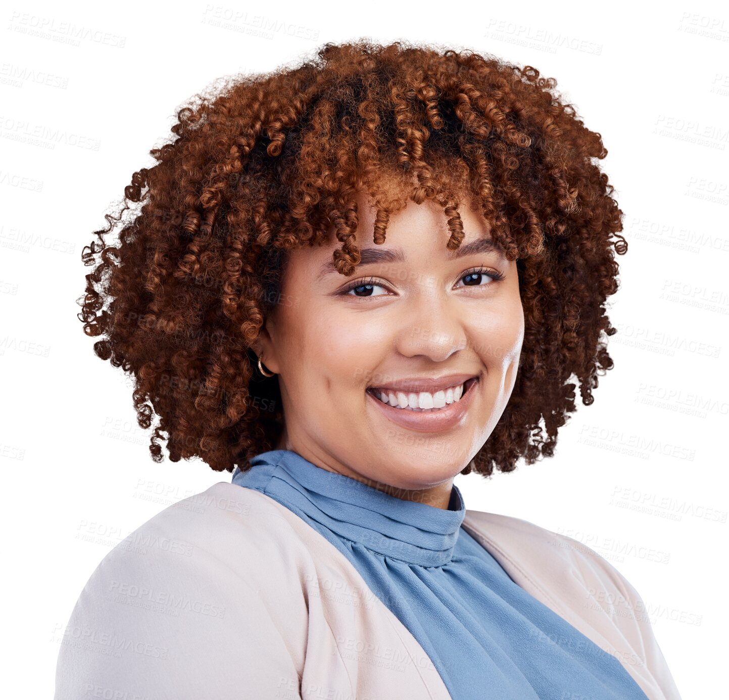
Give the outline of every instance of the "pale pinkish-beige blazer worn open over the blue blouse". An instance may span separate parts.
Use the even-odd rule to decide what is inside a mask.
[[[616,656],[650,700],[680,700],[639,594],[608,561],[520,518],[467,510],[463,526],[515,583]],[[490,697],[480,688],[473,699]],[[55,700],[95,698],[450,695],[331,542],[274,499],[221,481],[136,529],[81,592]]]

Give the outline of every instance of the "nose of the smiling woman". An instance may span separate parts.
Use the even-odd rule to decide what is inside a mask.
[[[463,304],[449,299],[448,294],[432,289],[414,294],[403,305],[397,351],[405,357],[422,355],[443,362],[468,345],[463,313]]]

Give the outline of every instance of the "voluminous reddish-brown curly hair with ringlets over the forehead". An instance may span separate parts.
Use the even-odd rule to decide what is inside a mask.
[[[461,473],[488,476],[552,456],[575,411],[612,368],[601,331],[627,251],[623,212],[593,159],[604,158],[556,81],[493,55],[408,42],[327,43],[295,68],[237,76],[177,112],[176,138],[150,151],[109,226],[82,252],[79,319],[101,359],[133,373],[139,426],[160,423],[152,459],[200,456],[213,470],[249,467],[274,449],[284,416],[278,378],[252,350],[280,300],[286,251],[327,241],[354,273],[354,193],[377,205],[375,244],[411,198],[443,207],[448,249],[464,238],[459,198],[475,202],[491,237],[516,260],[525,335],[510,401]],[[383,187],[399,179],[401,198]],[[118,246],[104,234],[123,224]],[[613,234],[615,238],[612,238]],[[108,303],[108,307],[104,308]]]

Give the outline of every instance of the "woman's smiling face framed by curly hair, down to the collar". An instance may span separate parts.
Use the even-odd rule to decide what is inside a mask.
[[[290,251],[281,299],[254,344],[278,373],[286,429],[276,448],[445,508],[515,383],[524,330],[516,263],[478,243],[456,257],[429,200],[392,214],[376,245],[375,209],[364,193],[357,204],[356,244],[380,259],[363,252],[350,277],[327,270],[340,246],[333,230],[326,246]],[[462,250],[489,238],[477,211],[463,202],[459,213]],[[463,384],[458,400],[445,388],[454,384]]]

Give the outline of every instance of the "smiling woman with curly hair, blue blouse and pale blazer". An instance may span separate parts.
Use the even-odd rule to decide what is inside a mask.
[[[154,459],[233,477],[101,562],[56,700],[679,698],[611,564],[453,483],[551,456],[612,367],[622,212],[554,87],[357,42],[179,112],[82,319]]]

